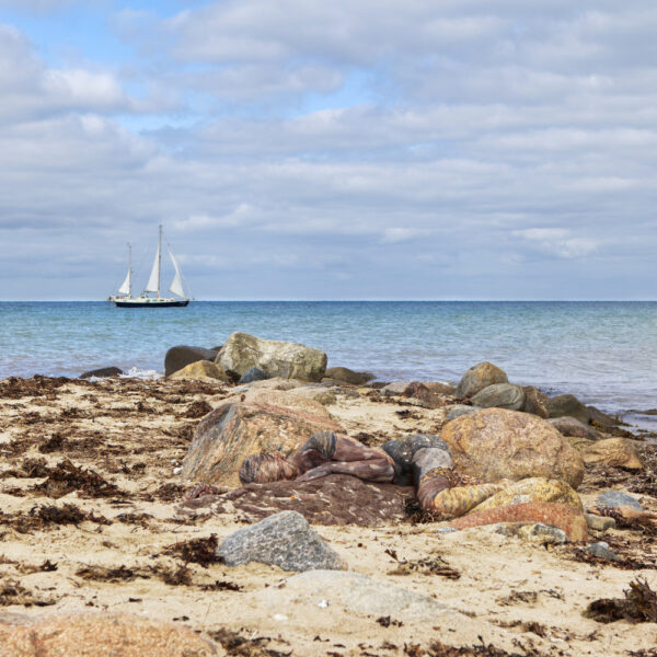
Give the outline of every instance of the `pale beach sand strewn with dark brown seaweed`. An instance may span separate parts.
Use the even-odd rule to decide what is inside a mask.
[[[339,597],[300,593],[286,584],[293,574],[277,567],[204,567],[183,557],[177,544],[211,545],[211,537],[253,521],[230,503],[221,514],[178,507],[191,483],[174,470],[200,416],[234,394],[230,388],[41,378],[8,380],[0,390],[0,613],[139,614],[203,633],[219,655],[655,655],[656,623],[583,615],[592,600],[622,597],[637,576],[657,590],[657,532],[649,529],[591,532],[621,556],[614,564],[583,561],[581,545],[544,546],[485,527],[438,533],[442,526],[411,519],[315,526],[349,570],[445,606],[429,621],[349,612]],[[324,406],[331,417],[373,445],[443,424],[445,407],[367,388],[333,392]],[[638,450],[654,466],[655,445]],[[657,495],[654,472],[588,470],[581,498],[586,506],[602,487],[637,482]],[[656,497],[636,497],[657,510]],[[431,652],[435,642],[499,653]]]

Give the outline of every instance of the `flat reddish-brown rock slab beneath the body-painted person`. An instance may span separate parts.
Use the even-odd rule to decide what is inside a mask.
[[[348,474],[330,474],[310,482],[246,484],[232,506],[241,517],[257,521],[276,511],[298,511],[312,525],[377,527],[407,518],[404,503],[414,497],[413,486],[364,482]],[[221,497],[216,500],[222,505]],[[232,512],[231,508],[215,512]]]

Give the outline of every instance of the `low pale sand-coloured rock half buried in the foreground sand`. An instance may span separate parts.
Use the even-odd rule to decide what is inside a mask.
[[[274,603],[289,599],[315,603],[326,600],[348,613],[362,616],[390,616],[405,623],[435,623],[436,616],[451,610],[422,593],[376,581],[358,573],[310,570],[286,579],[286,586]]]

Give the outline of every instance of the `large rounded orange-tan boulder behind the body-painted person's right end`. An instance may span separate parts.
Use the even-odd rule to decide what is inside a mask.
[[[447,423],[441,438],[457,471],[484,482],[543,476],[577,488],[584,477],[577,451],[546,420],[527,413],[485,408]]]

